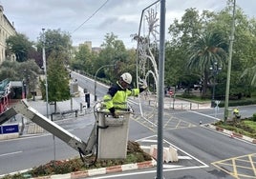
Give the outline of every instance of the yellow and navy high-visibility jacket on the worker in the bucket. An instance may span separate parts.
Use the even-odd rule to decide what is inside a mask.
[[[123,89],[118,83],[112,86],[106,95],[103,97],[103,103],[107,109],[111,112],[115,112],[116,109],[127,110],[127,98],[128,96],[137,96],[139,92],[144,89]]]

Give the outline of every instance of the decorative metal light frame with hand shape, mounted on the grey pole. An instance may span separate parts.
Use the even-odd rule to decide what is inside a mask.
[[[139,32],[134,35],[134,40],[137,40],[137,84],[139,86],[139,79],[148,80],[150,76],[154,79],[153,87],[156,87],[156,93],[158,94],[159,86],[159,70],[156,60],[156,54],[154,52],[159,51],[160,42],[160,0],[149,5],[142,10],[139,23]],[[142,29],[142,25],[144,26]],[[146,28],[145,28],[146,26]],[[155,51],[154,51],[155,50]],[[156,98],[153,92],[149,89],[145,93],[145,98]],[[139,109],[143,118],[148,119],[155,116],[156,109],[154,108],[150,114],[143,113],[141,107],[139,95]],[[149,98],[148,98],[149,97]],[[151,106],[157,107],[157,100],[150,101]],[[151,117],[150,117],[151,116]]]

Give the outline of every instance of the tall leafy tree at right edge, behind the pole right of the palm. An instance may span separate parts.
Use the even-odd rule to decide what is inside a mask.
[[[207,30],[218,31],[229,38],[232,23],[233,0],[228,0],[227,6],[224,10],[216,12],[216,15],[210,23],[208,23]],[[248,78],[241,78],[245,69],[250,69],[255,66],[256,61],[256,20],[249,18],[245,12],[236,7],[235,14],[235,33],[232,54],[232,66],[230,75],[230,95],[250,96],[251,92],[255,90],[248,82]],[[226,78],[224,78],[225,81]]]

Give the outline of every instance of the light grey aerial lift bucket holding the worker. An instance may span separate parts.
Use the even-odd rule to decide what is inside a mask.
[[[131,111],[118,111],[118,118],[113,118],[106,109],[97,109],[98,123],[97,158],[126,158]]]

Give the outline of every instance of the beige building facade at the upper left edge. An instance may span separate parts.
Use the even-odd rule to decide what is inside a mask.
[[[7,53],[6,40],[11,35],[15,35],[16,30],[14,29],[13,23],[11,24],[6,15],[4,14],[4,8],[0,5],[0,65],[6,59],[11,61],[15,60],[14,54]]]

